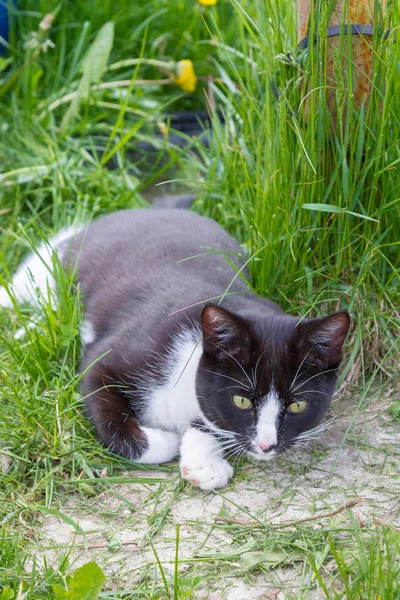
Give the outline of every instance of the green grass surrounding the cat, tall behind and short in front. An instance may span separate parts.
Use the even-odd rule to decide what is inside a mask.
[[[28,249],[62,226],[145,206],[156,183],[163,184],[157,188],[160,193],[193,192],[195,210],[217,219],[254,255],[257,293],[293,314],[339,307],[352,313],[342,391],[352,390],[360,398],[357,413],[365,415],[364,432],[373,426],[369,411],[385,394],[385,407],[392,401],[387,419],[396,427],[397,4],[387,3],[382,30],[391,28],[388,40],[375,33],[371,98],[363,108],[351,93],[345,94],[346,73],[356,67],[346,38],[341,38],[334,57],[336,124],[326,108],[331,93],[324,71],[327,3],[315,0],[311,29],[320,41],[303,53],[296,50],[294,0],[219,0],[212,8],[194,0],[114,4],[19,3],[10,48],[0,59],[1,277],[8,281]],[[54,23],[40,32],[39,23],[49,12]],[[104,27],[111,21],[114,27]],[[54,48],[43,45],[48,38]],[[98,58],[91,69],[92,59],[86,60],[90,49]],[[127,66],[138,58],[140,64]],[[192,94],[152,63],[184,58],[193,61],[199,77]],[[173,111],[206,108],[214,125],[208,148],[184,134],[178,135],[185,147],[168,140]],[[115,575],[116,590],[103,589],[101,598],[196,597],[199,590],[220,589],[224,575],[254,586],[261,577],[279,590],[280,569],[293,573],[298,583],[294,591],[287,589],[289,599],[308,599],[311,593],[335,600],[399,598],[395,525],[363,523],[345,512],[342,519],[323,520],[319,529],[303,523],[271,530],[266,509],[256,514],[245,504],[235,507],[229,490],[222,510],[228,517],[239,510],[235,518],[245,524],[188,518],[185,527],[202,539],[197,553],[181,557],[189,541],[183,529],[177,539],[173,528],[168,535],[174,549],[165,558],[160,540],[173,521],[171,511],[181,498],[193,500],[194,492],[180,483],[174,465],[149,472],[98,445],[79,395],[81,304],[61,272],[58,280],[59,306],[52,308],[44,299],[43,316],[33,328],[29,307],[0,312],[0,439],[12,461],[0,474],[0,598],[54,598],[52,585],[65,587],[66,575],[76,571],[71,550],[85,542],[79,534],[81,514],[89,511],[116,527],[115,511],[96,504],[102,494],[130,511],[129,528],[143,529],[140,543],[146,554],[128,587]],[[21,327],[24,334],[16,339]],[[353,421],[350,434],[357,447],[361,439],[368,445]],[[339,446],[345,443],[343,439]],[[389,492],[399,481],[391,459],[396,452],[395,442],[390,450],[384,448]],[[300,475],[318,472],[325,464],[318,462],[324,457],[317,458],[311,467],[293,467],[292,487],[279,488],[273,478],[267,480],[278,486],[282,502],[295,500]],[[340,460],[337,456],[335,465]],[[238,485],[251,486],[248,468],[239,469]],[[280,469],[285,474],[291,467],[284,462]],[[280,475],[279,469],[274,471],[277,480]],[[127,485],[138,494],[145,492],[143,505]],[[324,502],[333,506],[335,500],[324,496]],[[267,506],[273,511],[268,501]],[[38,532],[51,517],[78,533],[76,540],[66,540],[61,556],[46,564],[39,556]],[[209,539],[214,540],[210,547]],[[106,550],[110,544],[108,540]],[[101,556],[97,560],[102,563]],[[172,571],[166,568],[171,564]],[[115,571],[108,562],[104,568],[108,585]]]

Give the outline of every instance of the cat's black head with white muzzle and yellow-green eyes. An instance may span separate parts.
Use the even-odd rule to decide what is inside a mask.
[[[300,321],[203,310],[196,391],[227,454],[269,460],[312,435],[305,432],[330,405],[349,324],[344,311]]]

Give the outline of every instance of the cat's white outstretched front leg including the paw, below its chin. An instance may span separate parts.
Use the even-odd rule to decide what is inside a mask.
[[[215,490],[227,485],[233,469],[214,436],[190,427],[181,443],[181,473],[200,489]]]

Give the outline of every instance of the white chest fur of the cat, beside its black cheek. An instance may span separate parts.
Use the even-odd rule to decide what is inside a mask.
[[[183,434],[201,416],[195,381],[202,351],[200,334],[195,330],[182,331],[175,338],[162,365],[163,381],[142,382],[142,425]]]

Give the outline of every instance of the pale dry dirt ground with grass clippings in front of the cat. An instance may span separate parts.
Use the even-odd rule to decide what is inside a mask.
[[[400,527],[400,425],[391,420],[389,403],[372,401],[366,411],[358,414],[351,401],[347,407],[343,402],[334,403],[333,413],[338,418],[311,452],[296,451],[265,464],[246,462],[238,468],[231,487],[218,493],[204,493],[181,484],[177,471],[138,471],[139,476],[162,477],[165,481],[115,485],[112,491],[85,502],[74,496],[61,510],[79,522],[88,548],[71,525],[49,515],[43,518],[35,540],[38,560],[46,557],[48,564],[56,565],[72,546],[71,569],[95,560],[107,576],[109,589],[130,588],[155,563],[147,535],[149,528],[157,527],[166,515],[153,539],[166,572],[172,574],[174,568],[177,524],[182,571],[193,564],[200,575],[214,569],[214,575],[207,579],[207,589],[200,586],[195,598],[283,600],[287,591],[295,593],[298,588],[296,567],[231,576],[230,572],[237,572],[241,556],[251,552],[253,540],[249,535],[238,548],[229,522],[258,519],[269,526],[282,525],[332,513],[354,500],[356,519],[371,523],[379,519]],[[328,518],[333,523],[341,519],[348,522],[348,510]],[[313,521],[315,528],[320,521]],[[222,560],[223,577],[217,574],[218,566],[210,567],[215,559]],[[153,576],[154,567],[151,569]],[[322,596],[315,590],[308,597],[312,600]]]

